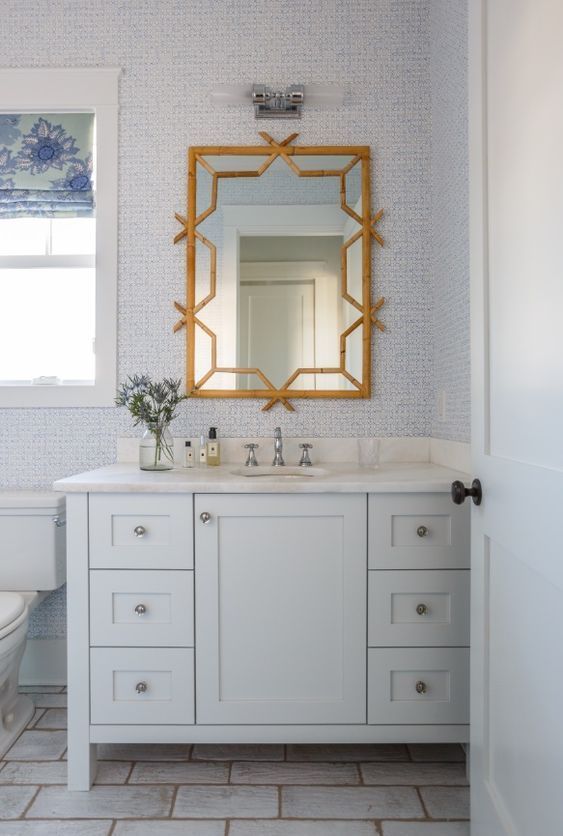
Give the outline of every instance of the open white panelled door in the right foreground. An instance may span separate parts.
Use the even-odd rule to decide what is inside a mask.
[[[562,36],[470,2],[473,836],[563,833]]]

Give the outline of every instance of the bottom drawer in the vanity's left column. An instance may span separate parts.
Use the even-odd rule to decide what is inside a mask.
[[[194,722],[194,655],[186,648],[90,651],[91,722]]]

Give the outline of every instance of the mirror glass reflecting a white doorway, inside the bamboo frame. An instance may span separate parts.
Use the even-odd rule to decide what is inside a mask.
[[[347,156],[299,159],[308,171],[342,170]],[[257,171],[260,157],[207,155],[197,167],[198,216],[214,203],[211,170]],[[204,164],[202,164],[204,163]],[[209,166],[209,169],[205,166]],[[217,334],[217,366],[260,369],[272,388],[282,388],[299,368],[338,368],[340,334],[361,314],[341,295],[342,246],[361,232],[342,211],[340,177],[298,178],[277,159],[261,177],[223,177],[216,209],[198,226],[196,300],[210,292],[212,242],[217,293],[200,312]],[[346,175],[346,200],[361,216],[361,171]],[[362,305],[362,240],[345,250],[349,294]],[[211,339],[196,329],[196,381],[212,367]],[[357,360],[350,373],[359,381]],[[216,373],[202,388],[264,388],[253,373]],[[288,388],[354,389],[340,374],[301,374]]]

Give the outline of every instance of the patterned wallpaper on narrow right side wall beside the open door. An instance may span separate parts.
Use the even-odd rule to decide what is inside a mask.
[[[431,435],[470,439],[467,4],[430,4],[434,403]],[[446,418],[438,396],[446,393]]]

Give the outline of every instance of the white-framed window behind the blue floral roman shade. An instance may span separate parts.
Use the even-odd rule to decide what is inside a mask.
[[[91,216],[80,194],[76,211],[55,217],[45,217],[43,206],[33,216],[31,202],[7,214],[0,206],[0,407],[113,403],[118,76],[116,69],[0,70],[0,162],[9,114],[26,114],[22,124],[48,114],[52,126],[59,114],[63,125],[93,114],[96,207]],[[82,118],[92,124],[91,115]]]

